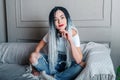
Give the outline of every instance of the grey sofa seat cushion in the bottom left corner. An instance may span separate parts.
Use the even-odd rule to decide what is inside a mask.
[[[0,64],[0,80],[30,80],[22,77],[25,73],[26,66],[19,64]]]

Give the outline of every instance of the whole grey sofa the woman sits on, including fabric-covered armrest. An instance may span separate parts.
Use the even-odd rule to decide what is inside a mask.
[[[37,43],[0,43],[0,80],[33,80],[23,77],[28,66],[28,57]],[[110,57],[110,48],[106,44],[81,44],[86,67],[75,80],[115,80]],[[47,52],[46,48],[42,50]],[[106,64],[107,63],[107,64]]]

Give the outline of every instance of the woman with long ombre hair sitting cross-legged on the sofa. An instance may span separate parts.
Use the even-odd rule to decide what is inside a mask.
[[[49,32],[31,54],[30,63],[46,79],[73,80],[84,66],[78,31],[63,7],[51,10],[49,25]],[[39,53],[46,44],[49,47],[48,55]]]

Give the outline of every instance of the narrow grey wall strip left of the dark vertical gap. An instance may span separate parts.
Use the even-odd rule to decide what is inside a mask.
[[[0,43],[6,41],[4,0],[0,0]]]

